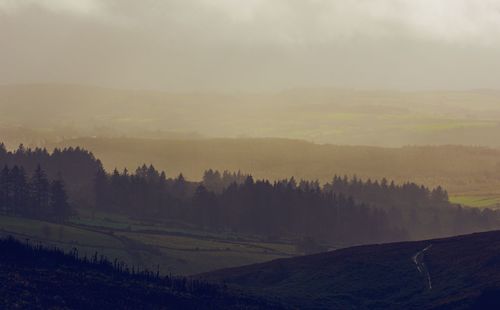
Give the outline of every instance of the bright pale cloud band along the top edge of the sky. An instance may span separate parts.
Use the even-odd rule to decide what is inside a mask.
[[[500,0],[0,0],[2,11],[30,7],[128,21],[159,36],[202,36],[206,25],[216,31],[214,38],[282,43],[353,37],[500,41]]]

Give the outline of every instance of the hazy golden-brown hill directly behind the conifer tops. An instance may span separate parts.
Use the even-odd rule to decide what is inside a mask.
[[[79,138],[53,146],[80,146],[108,170],[152,163],[167,176],[199,180],[206,169],[256,178],[329,182],[335,174],[444,186],[451,194],[498,193],[500,150],[466,146],[381,148],[321,145],[289,139]]]

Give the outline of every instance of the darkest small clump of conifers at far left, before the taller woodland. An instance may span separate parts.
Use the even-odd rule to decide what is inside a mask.
[[[71,214],[64,182],[49,181],[38,166],[28,177],[23,167],[0,171],[0,212],[9,215],[64,221]]]

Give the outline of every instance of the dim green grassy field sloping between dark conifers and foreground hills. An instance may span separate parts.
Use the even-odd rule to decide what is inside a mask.
[[[0,215],[0,236],[12,235],[80,255],[96,252],[129,265],[164,274],[190,275],[295,255],[285,241],[270,243],[251,236],[207,233],[115,215],[81,217],[56,224]]]

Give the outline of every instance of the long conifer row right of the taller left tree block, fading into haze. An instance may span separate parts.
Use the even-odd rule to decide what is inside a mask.
[[[229,185],[213,181],[222,175],[209,170],[198,183],[186,181],[182,174],[167,178],[153,166],[139,167],[132,174],[115,170],[108,175],[100,169],[95,178],[96,208],[182,220],[212,230],[313,236],[335,244],[430,238],[500,224],[498,212],[453,206],[439,187],[430,190],[355,177],[335,177],[324,186],[294,178],[254,181],[249,175]]]

